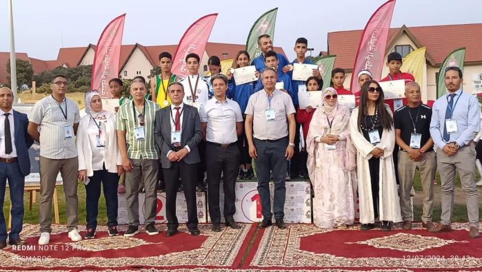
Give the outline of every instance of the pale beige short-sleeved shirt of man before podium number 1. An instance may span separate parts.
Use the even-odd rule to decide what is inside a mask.
[[[274,109],[275,121],[266,120],[266,110]],[[259,140],[277,140],[288,136],[288,115],[294,114],[293,101],[289,94],[274,90],[268,105],[268,93],[265,90],[250,96],[245,114],[253,116],[253,136]]]

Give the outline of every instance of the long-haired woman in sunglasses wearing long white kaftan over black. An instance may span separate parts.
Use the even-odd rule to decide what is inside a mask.
[[[392,152],[395,131],[392,112],[383,104],[383,90],[376,81],[361,86],[360,105],[352,111],[350,136],[357,147],[358,193],[361,230],[374,228],[376,218],[382,231],[391,222],[401,222]]]

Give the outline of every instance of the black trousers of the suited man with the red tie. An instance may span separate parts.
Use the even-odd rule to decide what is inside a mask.
[[[168,218],[168,228],[177,229],[179,222],[176,216],[176,198],[179,188],[179,177],[184,187],[185,202],[188,205],[188,229],[197,227],[196,181],[199,163],[188,165],[181,160],[172,163],[170,168],[164,168],[165,183],[165,217]]]

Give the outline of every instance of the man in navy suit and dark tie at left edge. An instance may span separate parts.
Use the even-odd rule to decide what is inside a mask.
[[[12,202],[12,229],[9,244],[23,245],[20,238],[23,223],[23,187],[30,174],[28,149],[33,143],[27,134],[28,117],[12,109],[13,93],[8,87],[0,88],[0,249],[7,247],[7,228],[3,216],[6,184],[10,187]],[[13,145],[14,143],[14,145]]]

